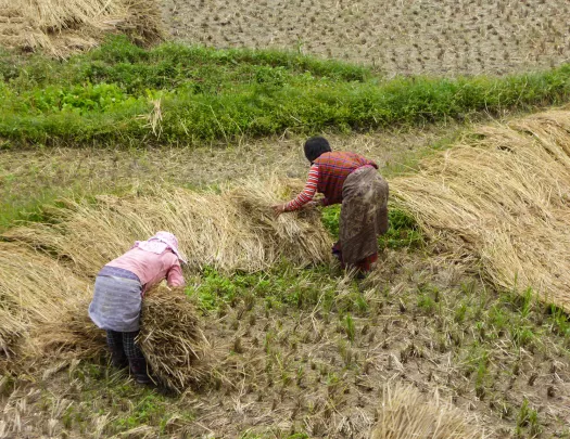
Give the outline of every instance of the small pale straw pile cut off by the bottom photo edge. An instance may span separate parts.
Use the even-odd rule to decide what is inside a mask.
[[[481,428],[466,413],[441,401],[429,400],[410,386],[384,387],[379,419],[370,439],[483,439]]]

